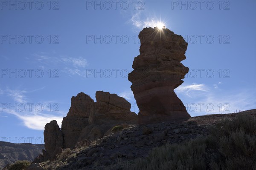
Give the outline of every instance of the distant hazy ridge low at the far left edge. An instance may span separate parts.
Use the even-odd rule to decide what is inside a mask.
[[[44,144],[14,144],[0,141],[0,169],[18,160],[33,161],[42,153],[42,149],[44,149]]]

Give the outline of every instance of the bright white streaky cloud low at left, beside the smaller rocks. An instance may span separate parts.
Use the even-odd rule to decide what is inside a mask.
[[[30,92],[35,92],[43,88],[44,87],[40,89],[32,90]],[[37,110],[35,107],[35,104],[32,104],[32,102],[29,101],[26,95],[27,93],[29,92],[26,90],[12,90],[7,88],[4,91],[4,94],[7,94],[7,96],[9,96],[12,99],[13,101],[12,106],[15,106],[15,104],[17,104],[17,107],[10,109],[9,107],[2,108],[3,105],[1,105],[1,108],[0,108],[1,112],[3,111],[7,114],[15,115],[17,118],[19,118],[23,122],[24,126],[33,130],[44,130],[45,124],[49,123],[52,120],[56,120],[59,126],[61,126],[61,121],[62,121],[64,112],[58,111],[58,109],[49,110],[49,106],[47,106],[49,103],[53,104],[54,102],[45,101],[41,103],[36,103],[36,104],[40,104],[40,109]],[[28,104],[30,104],[30,106]],[[21,107],[18,107],[19,105]],[[24,106],[26,106],[26,109],[24,109],[25,108]],[[43,106],[43,109],[41,108],[41,106]],[[55,115],[49,114],[49,112],[55,113]],[[1,115],[1,116],[8,117],[5,115]]]

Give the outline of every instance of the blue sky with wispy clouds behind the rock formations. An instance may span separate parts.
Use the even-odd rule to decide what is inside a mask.
[[[159,21],[188,42],[175,92],[191,116],[256,108],[254,0],[0,2],[2,141],[41,144],[79,92],[116,93],[138,112],[127,74],[139,32]]]

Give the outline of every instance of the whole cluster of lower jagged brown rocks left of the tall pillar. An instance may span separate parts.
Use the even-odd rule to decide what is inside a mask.
[[[71,98],[71,107],[63,118],[61,130],[56,121],[46,124],[44,160],[55,159],[64,148],[75,148],[78,142],[102,138],[119,124],[137,124],[137,115],[124,98],[97,91],[96,102],[83,92]],[[38,160],[41,160],[41,158]]]

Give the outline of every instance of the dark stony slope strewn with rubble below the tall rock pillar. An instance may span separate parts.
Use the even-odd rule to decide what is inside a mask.
[[[240,112],[256,118],[256,109]],[[181,143],[194,138],[208,135],[207,126],[221,119],[233,119],[238,113],[216,114],[192,117],[181,124],[159,123],[138,125],[133,124],[111,132],[108,136],[99,138],[83,148],[70,151],[67,157],[57,161],[41,163],[45,170],[103,170],[105,166],[118,161],[131,161],[146,157],[148,152],[166,142]],[[58,166],[57,166],[58,165]]]

